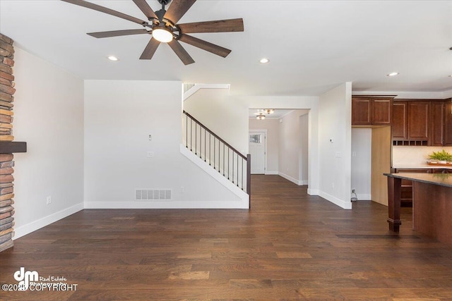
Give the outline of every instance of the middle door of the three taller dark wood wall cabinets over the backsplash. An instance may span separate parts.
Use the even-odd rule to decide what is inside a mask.
[[[429,140],[430,102],[408,102],[408,140]]]

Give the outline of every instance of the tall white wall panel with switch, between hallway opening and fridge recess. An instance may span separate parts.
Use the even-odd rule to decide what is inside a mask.
[[[319,100],[320,196],[351,209],[352,84],[346,82]]]

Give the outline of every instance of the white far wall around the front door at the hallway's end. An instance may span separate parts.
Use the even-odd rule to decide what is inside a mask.
[[[266,155],[266,174],[278,174],[278,149],[279,149],[279,120],[266,118],[257,120],[249,119],[249,130],[267,130],[267,155]],[[253,158],[251,158],[252,160]]]

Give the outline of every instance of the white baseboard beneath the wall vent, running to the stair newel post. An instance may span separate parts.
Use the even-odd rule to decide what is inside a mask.
[[[130,201],[85,202],[85,209],[249,209],[249,202]]]

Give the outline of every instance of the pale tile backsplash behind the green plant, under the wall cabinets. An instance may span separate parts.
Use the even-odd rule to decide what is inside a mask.
[[[408,147],[393,146],[392,166],[419,166],[427,162],[429,154],[445,149],[452,153],[452,147]]]

